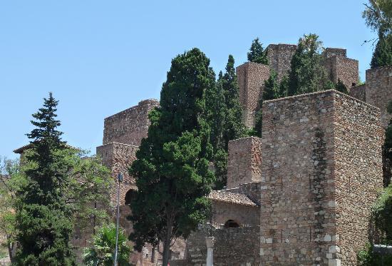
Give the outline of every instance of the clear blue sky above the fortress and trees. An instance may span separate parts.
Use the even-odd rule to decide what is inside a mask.
[[[28,143],[31,114],[52,91],[70,145],[102,143],[103,118],[159,98],[171,59],[192,47],[215,72],[231,53],[244,63],[252,39],[296,44],[319,34],[346,48],[362,80],[374,38],[361,18],[366,0],[1,1],[0,155]]]

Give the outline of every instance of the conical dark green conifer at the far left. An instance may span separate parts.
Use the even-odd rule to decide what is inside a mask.
[[[71,210],[63,199],[69,170],[65,142],[57,130],[56,101],[52,94],[43,108],[33,114],[36,128],[28,134],[24,175],[27,183],[18,191],[16,265],[75,265],[69,241],[73,229]]]

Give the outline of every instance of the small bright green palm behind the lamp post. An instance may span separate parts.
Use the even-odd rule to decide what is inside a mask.
[[[83,263],[88,266],[111,266],[115,252],[115,225],[103,225],[93,236],[93,246],[83,252]],[[118,265],[130,265],[130,247],[124,230],[118,230]]]

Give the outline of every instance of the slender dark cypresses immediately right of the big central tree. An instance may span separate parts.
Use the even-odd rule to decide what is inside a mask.
[[[227,183],[229,140],[242,138],[245,131],[232,55],[229,55],[225,74],[219,73],[216,85],[207,88],[205,98],[205,116],[211,128],[210,143],[213,148],[212,163],[215,165],[215,189],[221,189]]]

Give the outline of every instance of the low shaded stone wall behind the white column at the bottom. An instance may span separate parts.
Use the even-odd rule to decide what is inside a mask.
[[[215,237],[215,266],[256,266],[260,265],[259,227],[237,227],[218,229],[212,233]],[[170,265],[205,266],[207,246],[205,233],[192,232],[187,239],[185,260]]]

